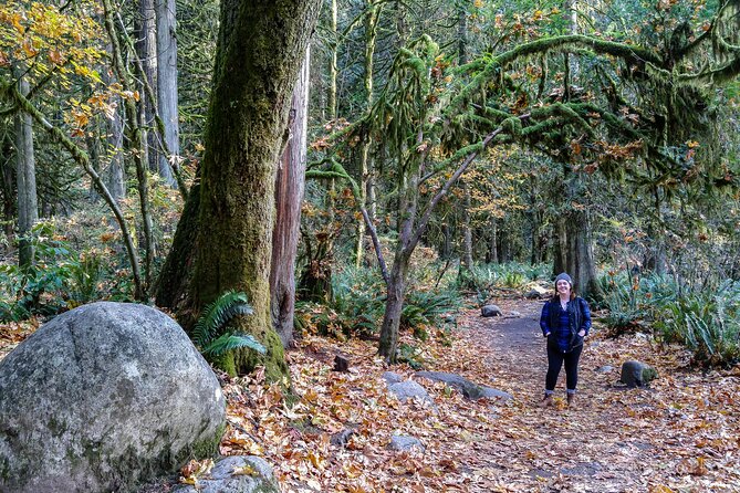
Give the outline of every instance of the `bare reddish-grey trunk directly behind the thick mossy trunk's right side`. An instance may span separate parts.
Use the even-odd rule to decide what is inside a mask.
[[[291,137],[278,167],[275,180],[275,225],[272,230],[270,270],[270,310],[272,326],[283,347],[293,342],[295,308],[295,254],[301,227],[301,202],[305,183],[310,48],[306,46],[303,69],[291,103]]]

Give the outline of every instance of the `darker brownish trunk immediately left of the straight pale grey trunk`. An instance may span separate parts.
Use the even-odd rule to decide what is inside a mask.
[[[154,9],[154,0],[138,0],[138,12],[134,17],[134,32],[136,40],[134,46],[136,49],[136,56],[142,61],[142,69],[146,82],[150,87],[157,86],[157,38],[156,38],[156,17]],[[157,145],[157,133],[154,127],[154,105],[148,93],[144,90],[144,81],[139,81],[139,115],[138,120],[142,127],[142,138],[146,143],[144,147],[145,155],[144,162],[147,164],[152,171],[157,170],[157,159],[159,156]],[[113,192],[113,190],[111,190]]]

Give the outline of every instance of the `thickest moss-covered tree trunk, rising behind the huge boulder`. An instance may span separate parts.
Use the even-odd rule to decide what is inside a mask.
[[[260,339],[268,354],[258,357],[247,349],[229,354],[221,364],[232,374],[264,365],[268,378],[288,377],[282,343],[270,317],[275,172],[286,140],[293,86],[320,3],[221,2],[200,203],[196,213],[181,218],[175,243],[187,240],[180,230],[190,230],[189,222],[197,218],[195,273],[185,293],[190,317],[228,290],[247,293],[254,308],[253,315],[237,321],[237,328]],[[196,196],[196,191],[189,195],[188,206]],[[185,258],[174,259],[174,264],[187,265],[185,250],[170,252]],[[173,272],[164,273],[159,292]],[[174,293],[166,297],[180,298]]]

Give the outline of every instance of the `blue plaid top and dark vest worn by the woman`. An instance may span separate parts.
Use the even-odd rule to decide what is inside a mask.
[[[560,305],[560,298],[553,297],[542,307],[540,316],[542,335],[550,333],[548,345],[561,353],[570,353],[583,344],[579,332],[591,331],[591,311],[582,297],[567,302],[566,310]]]

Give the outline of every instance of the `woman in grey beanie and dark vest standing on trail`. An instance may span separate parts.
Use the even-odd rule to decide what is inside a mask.
[[[579,359],[583,338],[591,331],[588,304],[573,292],[573,281],[566,273],[555,277],[555,295],[542,307],[542,334],[548,338],[548,376],[544,384],[544,406],[553,405],[553,394],[560,368],[565,363],[567,405],[573,405],[579,384]]]

